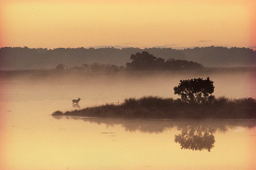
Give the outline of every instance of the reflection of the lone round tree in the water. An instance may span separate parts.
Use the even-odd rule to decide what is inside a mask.
[[[210,152],[210,149],[214,147],[214,133],[217,128],[205,127],[204,125],[188,125],[183,128],[179,128],[181,134],[175,135],[175,142],[179,143],[181,149],[191,149],[202,151],[206,149]]]

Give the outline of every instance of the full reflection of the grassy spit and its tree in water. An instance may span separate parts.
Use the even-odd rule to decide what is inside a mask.
[[[255,120],[153,120],[153,119],[119,119],[119,118],[88,118],[79,116],[53,116],[56,119],[66,118],[84,120],[85,122],[105,124],[109,127],[122,127],[125,131],[141,133],[163,133],[177,127],[181,134],[175,135],[174,141],[179,143],[181,149],[193,151],[210,150],[214,147],[214,133],[226,132],[230,126],[246,128],[256,127]]]

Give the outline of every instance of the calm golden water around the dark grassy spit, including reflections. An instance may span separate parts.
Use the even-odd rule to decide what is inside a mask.
[[[2,82],[1,169],[256,168],[256,120],[124,120],[50,115],[56,110],[77,109],[71,102],[76,97],[82,99],[81,108],[125,97],[173,97],[172,90],[170,94],[165,92],[168,85],[163,85],[162,91],[153,88],[156,86]],[[236,97],[247,93],[239,92]]]

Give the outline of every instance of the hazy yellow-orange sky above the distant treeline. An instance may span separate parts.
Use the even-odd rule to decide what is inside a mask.
[[[255,0],[0,2],[0,47],[256,45]]]

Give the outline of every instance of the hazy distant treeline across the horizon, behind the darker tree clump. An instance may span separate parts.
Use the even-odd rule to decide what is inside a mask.
[[[149,52],[157,58],[193,61],[209,67],[256,66],[256,51],[249,48],[202,47],[176,50],[171,48],[58,48],[29,49],[28,47],[3,47],[0,49],[0,69],[55,68],[57,64],[79,66],[81,64],[115,64],[130,62],[131,54]]]

